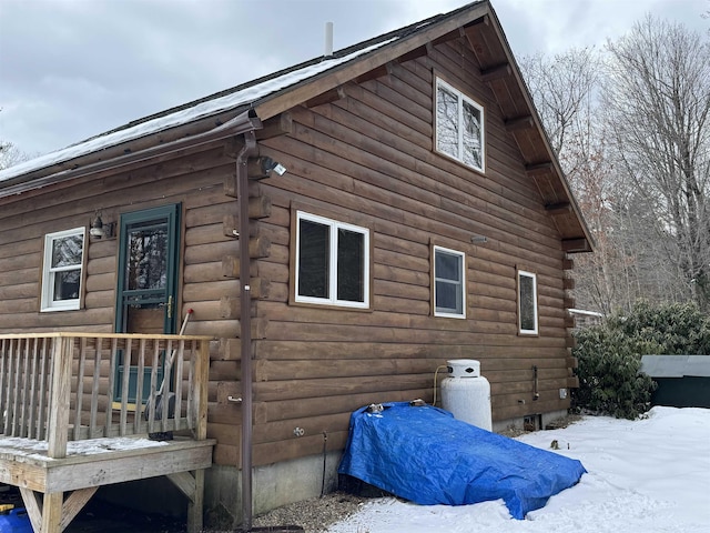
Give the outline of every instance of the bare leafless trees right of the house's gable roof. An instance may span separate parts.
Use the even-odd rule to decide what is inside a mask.
[[[694,296],[707,309],[708,44],[649,18],[607,63],[589,49],[520,62],[597,241],[576,258],[577,304]]]

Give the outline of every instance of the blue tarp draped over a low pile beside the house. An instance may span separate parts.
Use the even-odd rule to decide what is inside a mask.
[[[408,402],[384,408],[351,415],[338,473],[422,505],[503,499],[523,520],[587,472],[577,460],[481,430],[438,408]]]

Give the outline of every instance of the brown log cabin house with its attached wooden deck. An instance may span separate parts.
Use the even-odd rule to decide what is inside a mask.
[[[487,1],[7,169],[0,481],[48,533],[163,474],[143,500],[240,524],[242,461],[255,513],[332,490],[351,412],[432,402],[449,359],[480,361],[494,429],[539,426],[577,385],[589,251]]]

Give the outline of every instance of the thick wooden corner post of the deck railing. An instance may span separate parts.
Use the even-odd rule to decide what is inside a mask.
[[[60,335],[54,339],[47,450],[47,455],[52,459],[67,456],[72,346],[73,338]]]

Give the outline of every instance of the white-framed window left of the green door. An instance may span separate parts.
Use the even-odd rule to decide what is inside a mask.
[[[84,242],[84,228],[44,235],[41,311],[79,309]]]

